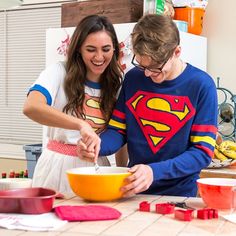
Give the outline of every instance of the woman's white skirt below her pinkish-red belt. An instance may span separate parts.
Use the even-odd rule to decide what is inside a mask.
[[[107,157],[99,157],[100,166],[110,166]],[[39,157],[34,174],[33,187],[54,189],[62,194],[73,194],[66,171],[77,167],[93,166],[94,163],[81,160],[79,157],[60,154],[45,148]]]

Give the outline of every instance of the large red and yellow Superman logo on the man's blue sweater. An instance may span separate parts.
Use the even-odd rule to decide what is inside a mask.
[[[136,118],[155,154],[195,114],[186,96],[138,91],[126,105]]]

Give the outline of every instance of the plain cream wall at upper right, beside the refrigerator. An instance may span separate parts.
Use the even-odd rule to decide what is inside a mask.
[[[208,73],[236,94],[235,0],[209,0],[202,35],[208,39]]]

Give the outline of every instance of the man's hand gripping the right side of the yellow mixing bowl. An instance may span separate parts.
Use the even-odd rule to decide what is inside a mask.
[[[121,188],[124,197],[130,197],[147,190],[153,182],[152,168],[148,165],[135,165],[129,169],[131,176],[126,178],[127,185]]]

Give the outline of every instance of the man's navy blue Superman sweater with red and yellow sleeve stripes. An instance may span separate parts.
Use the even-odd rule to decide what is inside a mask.
[[[217,93],[207,73],[187,64],[176,79],[157,84],[133,68],[100,136],[100,155],[127,143],[128,165],[153,170],[144,193],[196,196],[196,179],[211,162],[216,131]]]

